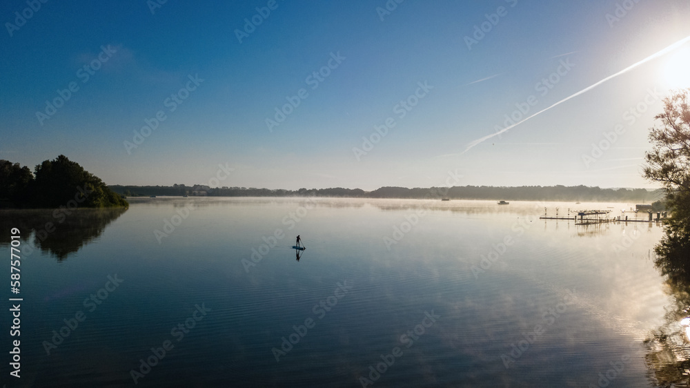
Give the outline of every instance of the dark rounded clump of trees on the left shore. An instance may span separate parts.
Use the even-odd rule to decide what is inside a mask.
[[[45,160],[32,173],[27,166],[0,159],[0,207],[107,208],[128,206],[101,179],[65,155]]]

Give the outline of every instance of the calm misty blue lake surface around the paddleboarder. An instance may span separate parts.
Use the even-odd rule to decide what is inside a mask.
[[[158,197],[3,211],[3,257],[9,228],[23,237],[21,292],[6,291],[23,298],[21,379],[8,387],[653,386],[644,340],[674,303],[654,264],[662,228],[539,220],[544,206],[634,204]]]

